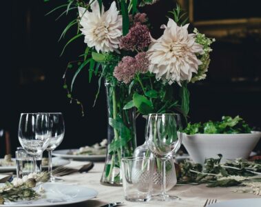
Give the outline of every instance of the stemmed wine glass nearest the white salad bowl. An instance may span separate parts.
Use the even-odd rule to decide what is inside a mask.
[[[146,126],[146,140],[149,150],[160,159],[161,168],[160,194],[153,199],[172,201],[176,196],[166,193],[166,160],[178,151],[182,141],[182,124],[178,114],[149,114]]]

